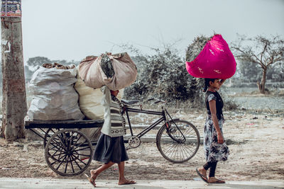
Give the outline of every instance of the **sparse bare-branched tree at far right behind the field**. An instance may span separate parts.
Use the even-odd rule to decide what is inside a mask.
[[[261,35],[255,38],[247,38],[239,35],[238,44],[232,44],[235,56],[242,62],[258,64],[262,69],[261,82],[257,81],[258,89],[265,93],[266,74],[271,64],[280,63],[284,60],[284,40],[280,36],[266,38]]]

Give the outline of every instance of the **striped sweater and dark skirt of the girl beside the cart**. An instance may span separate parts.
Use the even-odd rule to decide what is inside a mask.
[[[129,160],[124,147],[125,121],[121,115],[119,99],[111,96],[107,86],[102,87],[102,92],[104,93],[102,99],[104,125],[94,151],[94,160],[105,164],[109,163],[109,161],[119,164],[121,161]]]

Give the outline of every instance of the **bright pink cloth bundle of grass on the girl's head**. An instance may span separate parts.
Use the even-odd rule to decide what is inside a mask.
[[[186,69],[200,78],[228,79],[236,72],[236,61],[222,35],[195,38],[187,49]]]

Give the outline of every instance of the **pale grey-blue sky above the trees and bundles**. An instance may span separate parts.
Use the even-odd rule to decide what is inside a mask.
[[[121,52],[145,54],[175,43],[181,55],[197,35],[282,35],[284,0],[22,0],[23,57],[79,61]]]

